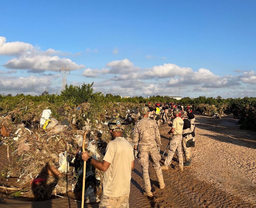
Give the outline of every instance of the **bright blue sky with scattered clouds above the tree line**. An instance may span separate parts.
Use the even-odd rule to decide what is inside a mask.
[[[24,53],[35,49],[38,61],[43,51],[54,49],[59,52],[47,54],[48,57],[44,58],[48,60],[57,55],[59,59],[72,60],[76,66],[71,66],[77,68],[73,74],[144,81],[149,71],[151,76],[146,78],[147,82],[256,87],[255,6],[255,1],[5,1],[1,3],[0,36],[6,38],[5,43],[28,43],[33,49],[31,46],[22,54],[13,55],[7,49],[8,44],[1,52],[0,43],[0,77],[8,79],[57,72],[53,68],[62,60],[47,65],[44,70],[30,67],[29,63],[24,66],[22,60],[6,64],[24,56],[33,59],[34,52]],[[126,59],[129,61],[122,62]],[[106,67],[108,63],[111,64]],[[164,63],[175,66],[158,67]],[[102,72],[102,68],[108,68],[110,73]],[[205,70],[198,71],[201,68]],[[6,74],[9,70],[13,70],[12,73]],[[239,70],[239,73],[234,70]],[[157,85],[134,86],[129,82],[123,85],[86,77],[68,77],[68,83],[72,84],[92,81],[95,89],[111,89],[116,94],[177,95],[174,87],[163,89]],[[43,82],[37,83],[35,93],[38,94],[45,86]],[[4,93],[31,93],[30,84],[19,86],[15,83],[18,91],[10,91],[12,86],[9,85],[8,90],[4,90],[6,85],[1,84],[0,89]],[[50,92],[56,92],[61,78],[50,79],[45,85]],[[182,87],[182,96],[216,97],[218,94],[223,97],[255,96],[251,89],[209,91]]]

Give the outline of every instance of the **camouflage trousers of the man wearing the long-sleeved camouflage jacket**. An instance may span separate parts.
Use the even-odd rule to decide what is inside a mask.
[[[150,179],[148,174],[148,156],[151,157],[151,162],[153,163],[153,167],[155,169],[156,177],[160,185],[164,183],[162,169],[159,163],[159,151],[157,148],[150,149],[148,151],[139,151],[139,159],[138,163],[141,165],[142,169],[142,178],[144,181],[144,186],[146,192],[151,191]]]

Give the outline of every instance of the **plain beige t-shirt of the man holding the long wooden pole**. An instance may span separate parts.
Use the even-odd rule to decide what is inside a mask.
[[[130,193],[133,148],[123,137],[108,143],[104,161],[111,163],[103,175],[103,194],[117,197]]]

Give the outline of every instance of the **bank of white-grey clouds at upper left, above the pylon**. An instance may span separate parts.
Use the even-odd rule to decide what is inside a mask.
[[[30,72],[59,71],[61,64],[69,65],[70,70],[82,69],[84,65],[78,65],[68,58],[60,58],[57,55],[70,55],[62,51],[47,49],[41,51],[29,43],[7,42],[5,37],[0,37],[0,55],[15,55],[16,58],[8,60],[3,66],[7,69],[25,69]],[[10,71],[9,71],[10,73]],[[14,73],[14,71],[12,71]]]

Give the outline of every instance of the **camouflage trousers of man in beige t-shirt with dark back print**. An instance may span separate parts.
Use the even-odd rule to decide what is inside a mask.
[[[172,161],[172,157],[176,152],[177,159],[179,161],[179,166],[183,167],[183,156],[182,156],[182,147],[181,147],[182,135],[172,136],[168,155],[165,158],[164,165],[169,166]]]

